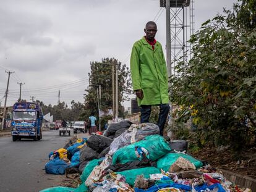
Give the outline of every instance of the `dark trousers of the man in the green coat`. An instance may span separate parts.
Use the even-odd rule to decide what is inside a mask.
[[[170,110],[169,104],[160,104],[160,113],[157,125],[160,129],[160,135],[163,136],[164,125]],[[140,106],[140,123],[148,123],[151,114],[151,106]]]

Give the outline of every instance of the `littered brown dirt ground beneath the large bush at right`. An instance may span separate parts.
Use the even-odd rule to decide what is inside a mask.
[[[234,155],[228,149],[217,151],[216,148],[209,147],[191,154],[197,159],[207,161],[217,169],[230,170],[256,179],[256,147],[244,150],[239,155]]]

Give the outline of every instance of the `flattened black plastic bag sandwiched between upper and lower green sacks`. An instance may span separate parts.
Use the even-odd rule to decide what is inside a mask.
[[[143,159],[142,161],[137,160],[133,162],[127,162],[126,164],[110,165],[105,169],[105,172],[107,172],[109,169],[113,170],[113,172],[122,172],[124,170],[139,169],[143,167],[156,167],[156,162]]]

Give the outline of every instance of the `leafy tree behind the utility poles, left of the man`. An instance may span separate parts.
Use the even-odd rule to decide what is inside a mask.
[[[127,99],[127,95],[131,93],[131,81],[129,68],[114,58],[104,58],[101,62],[91,62],[91,72],[89,76],[89,86],[85,90],[85,113],[83,117],[88,119],[91,112],[98,114],[97,89],[101,85],[101,110],[107,111],[112,109],[113,93],[112,93],[112,66],[117,65],[118,69],[118,102],[119,116],[124,114],[124,107],[121,106],[122,101]],[[105,122],[103,122],[105,123]]]

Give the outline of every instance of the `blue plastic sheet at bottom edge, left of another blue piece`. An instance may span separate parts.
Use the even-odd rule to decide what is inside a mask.
[[[185,190],[185,191],[192,191],[191,186],[182,185],[182,184],[178,184],[178,183],[163,183],[163,184],[151,186],[147,190],[140,190],[139,188],[135,188],[135,192],[155,192],[160,189],[167,188],[167,187],[173,187],[173,188],[177,188],[177,189],[181,189],[181,190]]]

